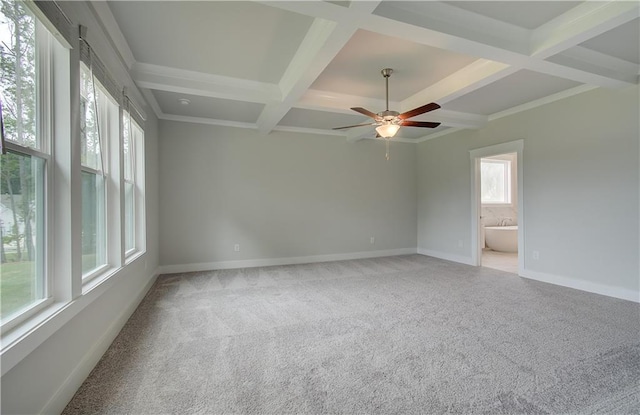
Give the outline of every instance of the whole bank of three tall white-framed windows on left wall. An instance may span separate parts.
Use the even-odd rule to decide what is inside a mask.
[[[125,89],[87,42],[69,53],[77,26],[60,13],[51,2],[0,2],[3,347],[69,318],[63,307],[79,312],[73,299],[104,289],[94,277],[144,252],[144,115],[123,125]]]

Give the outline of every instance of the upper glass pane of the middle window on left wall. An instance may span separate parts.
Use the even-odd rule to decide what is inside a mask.
[[[80,67],[80,158],[83,166],[102,170],[98,121],[104,120],[98,120],[99,113],[96,111],[96,106],[100,105],[101,92],[97,83],[94,85],[89,69],[84,64]],[[103,134],[104,131],[100,133]]]

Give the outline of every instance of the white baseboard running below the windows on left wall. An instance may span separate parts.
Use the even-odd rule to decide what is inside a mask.
[[[62,413],[65,406],[69,403],[73,395],[76,393],[78,388],[82,385],[82,382],[85,381],[89,373],[93,370],[93,368],[98,364],[100,358],[107,351],[113,340],[115,340],[122,327],[124,327],[129,317],[136,310],[144,296],[149,292],[151,286],[155,283],[158,278],[159,268],[152,274],[151,278],[147,281],[147,283],[140,289],[137,293],[134,300],[118,314],[118,316],[112,321],[109,328],[104,332],[104,334],[95,342],[93,347],[87,351],[87,353],[80,359],[76,367],[69,374],[67,379],[60,385],[58,390],[53,394],[51,399],[46,403],[41,414],[59,414]]]

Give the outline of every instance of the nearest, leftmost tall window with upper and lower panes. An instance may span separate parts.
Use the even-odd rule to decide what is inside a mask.
[[[0,9],[0,100],[7,152],[0,159],[0,304],[5,322],[48,297],[47,105],[50,35],[24,4]]]

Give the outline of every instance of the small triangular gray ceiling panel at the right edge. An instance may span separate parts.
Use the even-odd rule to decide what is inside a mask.
[[[640,64],[640,18],[589,39],[581,46]]]

